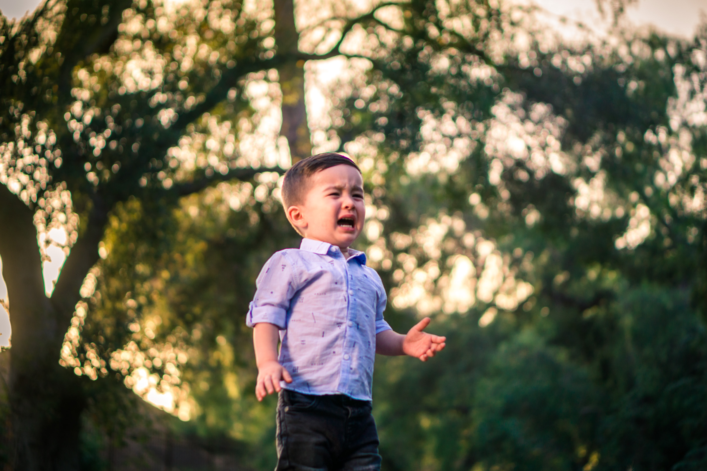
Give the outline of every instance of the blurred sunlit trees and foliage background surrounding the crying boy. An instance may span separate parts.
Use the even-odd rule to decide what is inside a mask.
[[[705,9],[0,1],[4,469],[274,467],[245,313],[326,151],[448,336],[376,359],[385,471],[707,469]]]

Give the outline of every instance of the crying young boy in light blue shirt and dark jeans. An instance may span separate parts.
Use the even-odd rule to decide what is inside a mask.
[[[423,332],[429,318],[407,335],[383,320],[380,277],[363,252],[349,249],[366,216],[354,162],[335,153],[300,160],[285,174],[282,196],[304,239],[267,261],[247,315],[255,395],[279,393],[276,471],[380,470],[370,413],[375,354],[424,362],[445,338]]]

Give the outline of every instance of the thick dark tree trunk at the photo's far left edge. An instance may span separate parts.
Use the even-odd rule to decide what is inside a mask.
[[[66,325],[44,293],[33,210],[0,185],[0,230],[13,328],[8,400],[13,442],[11,469],[78,468],[78,432],[84,399],[80,379],[59,365]]]

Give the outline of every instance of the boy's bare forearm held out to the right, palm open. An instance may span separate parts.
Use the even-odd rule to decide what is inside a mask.
[[[423,318],[407,335],[393,330],[383,330],[375,335],[375,352],[382,355],[409,355],[426,362],[445,347],[446,337],[426,333],[424,330],[430,323],[430,318]]]

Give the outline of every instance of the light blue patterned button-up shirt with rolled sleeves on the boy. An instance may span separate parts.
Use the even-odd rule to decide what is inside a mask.
[[[305,394],[345,394],[370,400],[375,335],[387,298],[366,254],[303,239],[299,249],[276,252],[258,275],[247,326],[280,330],[279,362],[292,375],[281,386]]]

